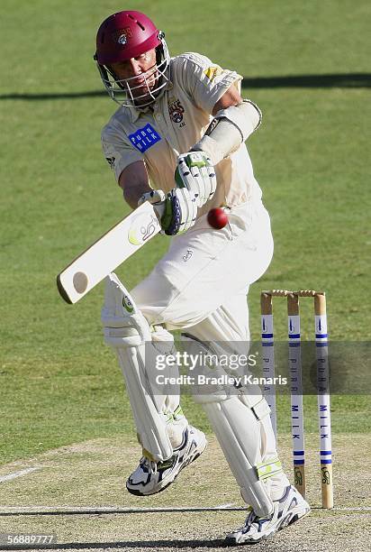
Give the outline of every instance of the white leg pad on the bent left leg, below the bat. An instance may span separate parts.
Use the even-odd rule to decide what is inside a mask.
[[[122,369],[140,443],[154,460],[167,460],[173,454],[168,431],[172,421],[169,407],[170,402],[178,404],[178,398],[169,398],[153,385],[151,357],[153,360],[158,350],[152,342],[149,324],[115,274],[106,278],[102,322],[105,342],[115,349]],[[170,344],[172,339],[167,333]]]

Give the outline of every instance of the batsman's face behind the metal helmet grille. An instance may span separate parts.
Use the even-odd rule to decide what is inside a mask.
[[[122,80],[124,87],[128,87],[132,97],[143,97],[149,92],[157,80],[156,50],[149,50],[131,60],[119,61],[111,64],[115,77]]]

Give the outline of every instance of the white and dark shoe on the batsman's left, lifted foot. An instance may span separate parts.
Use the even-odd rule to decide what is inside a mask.
[[[126,482],[127,490],[140,496],[164,491],[186,465],[203,454],[206,446],[204,433],[188,426],[183,433],[182,444],[174,449],[168,460],[154,462],[147,456],[140,458],[139,466]]]

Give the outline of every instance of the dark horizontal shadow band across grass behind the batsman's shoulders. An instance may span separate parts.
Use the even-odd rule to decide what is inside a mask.
[[[371,73],[339,73],[333,75],[292,75],[288,77],[244,77],[244,88],[369,88]],[[82,97],[107,97],[105,90],[57,93],[9,93],[0,94],[0,100],[54,100]]]

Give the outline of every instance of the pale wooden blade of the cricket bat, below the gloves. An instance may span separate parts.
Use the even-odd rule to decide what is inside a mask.
[[[148,201],[125,216],[68,264],[57,276],[59,293],[68,303],[77,303],[105,276],[114,271],[161,229]]]

